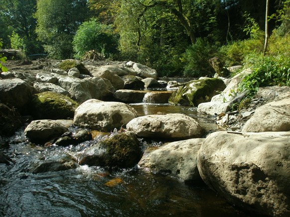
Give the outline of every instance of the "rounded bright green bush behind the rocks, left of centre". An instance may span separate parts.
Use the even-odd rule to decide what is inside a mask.
[[[81,59],[86,51],[95,50],[105,57],[117,53],[118,35],[113,33],[111,25],[105,25],[96,19],[83,22],[73,38],[75,57]]]

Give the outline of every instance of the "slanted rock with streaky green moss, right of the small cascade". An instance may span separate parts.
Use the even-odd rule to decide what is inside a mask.
[[[173,92],[168,102],[174,105],[197,107],[201,103],[209,102],[225,88],[226,85],[221,79],[193,80]]]

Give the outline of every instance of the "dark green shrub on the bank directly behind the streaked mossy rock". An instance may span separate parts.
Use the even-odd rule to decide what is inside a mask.
[[[198,38],[183,54],[184,76],[213,76],[215,71],[209,64],[209,59],[215,56],[216,50],[217,47],[211,45],[207,39]]]

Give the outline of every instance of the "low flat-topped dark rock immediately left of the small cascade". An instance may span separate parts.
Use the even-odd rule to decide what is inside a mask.
[[[142,103],[146,91],[118,90],[113,97],[122,103]]]

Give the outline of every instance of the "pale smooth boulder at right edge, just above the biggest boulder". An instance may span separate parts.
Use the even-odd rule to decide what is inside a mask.
[[[288,97],[265,104],[255,110],[254,115],[245,123],[243,132],[289,131],[290,94]]]

